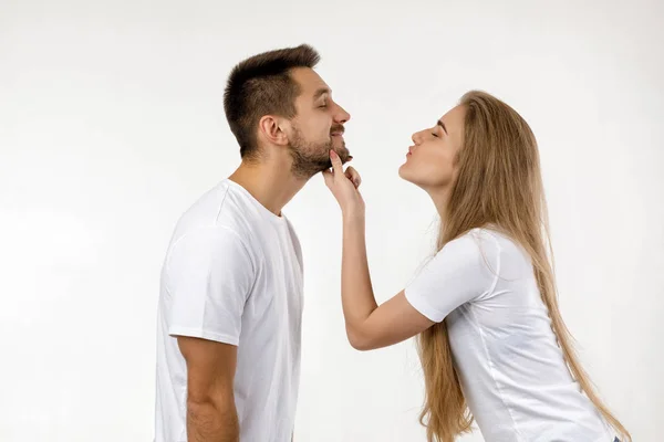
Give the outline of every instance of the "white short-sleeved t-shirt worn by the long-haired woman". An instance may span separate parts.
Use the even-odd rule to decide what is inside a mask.
[[[487,442],[611,442],[568,370],[529,255],[475,229],[447,243],[405,290],[434,322],[447,318],[461,389]]]

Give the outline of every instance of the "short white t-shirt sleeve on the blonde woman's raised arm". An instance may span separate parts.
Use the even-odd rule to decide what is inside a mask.
[[[460,305],[485,296],[497,278],[496,246],[471,233],[448,242],[405,288],[406,299],[439,323]]]

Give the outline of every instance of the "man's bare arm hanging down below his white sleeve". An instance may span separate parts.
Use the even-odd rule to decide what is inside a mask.
[[[232,385],[237,347],[177,337],[187,361],[187,438],[189,442],[238,442],[240,425]]]

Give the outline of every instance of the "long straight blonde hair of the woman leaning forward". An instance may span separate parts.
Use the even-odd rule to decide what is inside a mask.
[[[463,147],[440,225],[437,250],[475,228],[494,224],[530,255],[551,327],[574,379],[606,422],[625,440],[630,433],[602,403],[572,348],[556,293],[547,204],[537,141],[521,116],[498,98],[478,91],[461,97],[466,109]],[[473,424],[459,385],[445,322],[419,335],[425,402],[419,421],[428,442],[453,442]]]

